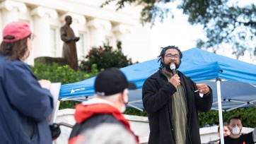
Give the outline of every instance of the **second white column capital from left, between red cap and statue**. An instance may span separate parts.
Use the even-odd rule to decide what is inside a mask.
[[[42,6],[37,6],[31,12],[33,16],[40,16],[45,17],[48,16],[49,18],[56,19],[58,17],[57,11],[52,8],[45,8]]]

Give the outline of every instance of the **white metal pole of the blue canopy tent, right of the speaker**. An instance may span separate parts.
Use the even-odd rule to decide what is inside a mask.
[[[223,118],[222,118],[222,106],[221,106],[221,78],[216,78],[216,85],[217,85],[218,108],[219,108],[219,132],[221,137],[221,144],[224,144]]]

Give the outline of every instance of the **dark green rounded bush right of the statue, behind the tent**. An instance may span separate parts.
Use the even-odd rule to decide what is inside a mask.
[[[114,50],[110,44],[103,44],[103,47],[93,47],[86,55],[86,61],[81,61],[82,71],[90,71],[93,64],[97,64],[98,71],[105,68],[122,68],[132,64],[132,59],[127,59],[122,53],[122,43],[117,42],[117,49]]]

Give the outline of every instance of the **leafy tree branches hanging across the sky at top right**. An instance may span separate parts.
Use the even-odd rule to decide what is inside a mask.
[[[125,4],[143,6],[141,23],[155,23],[156,19],[163,21],[173,16],[171,9],[166,5],[175,0],[106,0],[102,6],[116,2],[117,10]],[[188,22],[192,25],[204,26],[207,40],[197,40],[197,47],[219,49],[223,44],[231,44],[233,54],[238,58],[245,51],[256,56],[256,6],[238,6],[228,0],[183,0],[178,5],[183,13],[189,16]],[[171,14],[171,15],[170,15]]]

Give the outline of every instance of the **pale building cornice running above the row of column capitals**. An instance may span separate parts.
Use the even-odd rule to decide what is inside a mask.
[[[1,0],[0,0],[1,1]],[[70,1],[70,0],[16,0],[24,2],[32,6],[44,6],[47,8],[56,9],[59,13],[70,12],[81,14],[86,18],[98,18],[102,20],[110,20],[111,23],[124,23],[134,25],[134,20],[139,21],[139,17],[134,16],[138,11],[115,11],[115,7],[100,8],[100,2],[91,1]],[[104,1],[103,1],[104,2]],[[128,6],[129,7],[129,6]],[[64,14],[64,13],[62,13]]]

